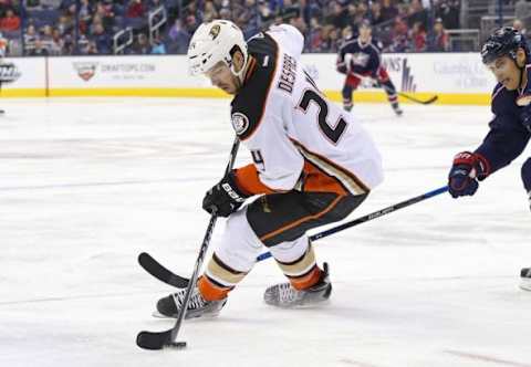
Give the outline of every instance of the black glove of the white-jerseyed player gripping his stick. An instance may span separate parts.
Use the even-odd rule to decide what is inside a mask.
[[[210,214],[216,211],[219,217],[229,217],[241,207],[248,197],[238,188],[232,170],[207,191],[202,199],[202,209]]]

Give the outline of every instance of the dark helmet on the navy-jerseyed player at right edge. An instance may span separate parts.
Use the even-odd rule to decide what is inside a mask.
[[[483,64],[491,63],[498,57],[509,56],[517,61],[518,49],[523,49],[529,57],[529,49],[522,33],[512,27],[497,29],[483,43],[481,59]]]

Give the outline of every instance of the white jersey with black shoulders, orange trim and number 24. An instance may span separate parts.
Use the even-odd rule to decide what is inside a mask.
[[[383,180],[378,150],[354,117],[326,101],[303,70],[303,36],[282,24],[248,42],[250,66],[231,103],[253,165],[237,170],[248,193],[361,195]]]

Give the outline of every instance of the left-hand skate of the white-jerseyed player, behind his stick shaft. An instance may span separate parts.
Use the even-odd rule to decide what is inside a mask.
[[[185,298],[185,290],[180,290],[177,293],[173,293],[167,297],[160,298],[157,302],[157,311],[153,314],[156,317],[173,317],[177,318],[177,315],[181,308],[183,301]],[[190,300],[188,301],[188,308],[186,311],[185,318],[195,318],[209,316],[215,317],[219,314],[221,308],[227,303],[227,297],[219,301],[207,301],[199,293],[196,287],[191,291]]]

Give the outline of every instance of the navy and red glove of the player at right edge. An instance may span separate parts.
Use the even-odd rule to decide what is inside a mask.
[[[478,180],[482,181],[488,175],[489,164],[481,155],[461,151],[454,157],[448,174],[448,191],[452,198],[472,196],[478,189]]]

